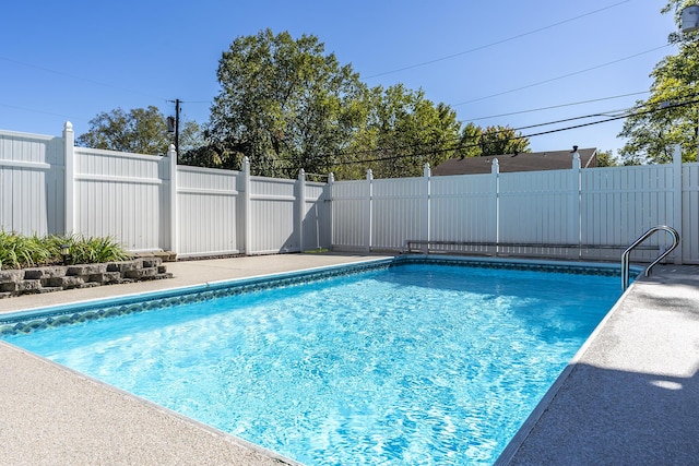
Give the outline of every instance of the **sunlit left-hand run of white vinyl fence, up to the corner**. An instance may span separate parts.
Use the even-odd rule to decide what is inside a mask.
[[[179,256],[330,248],[327,184],[188,167],[168,156],[74,146],[0,132],[0,229],[114,237],[131,251]]]

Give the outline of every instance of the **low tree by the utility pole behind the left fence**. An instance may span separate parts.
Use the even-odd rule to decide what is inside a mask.
[[[180,134],[180,152],[200,144],[200,129],[193,121],[183,124]],[[79,145],[138,154],[164,155],[173,135],[157,107],[134,108],[129,112],[117,108],[98,113],[90,120],[90,130],[76,139]]]

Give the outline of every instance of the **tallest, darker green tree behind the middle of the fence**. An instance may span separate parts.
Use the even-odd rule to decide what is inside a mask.
[[[329,155],[350,145],[365,118],[366,86],[315,36],[294,40],[266,29],[238,37],[217,79],[200,155],[221,166],[237,168],[248,156],[256,175],[327,172]]]

